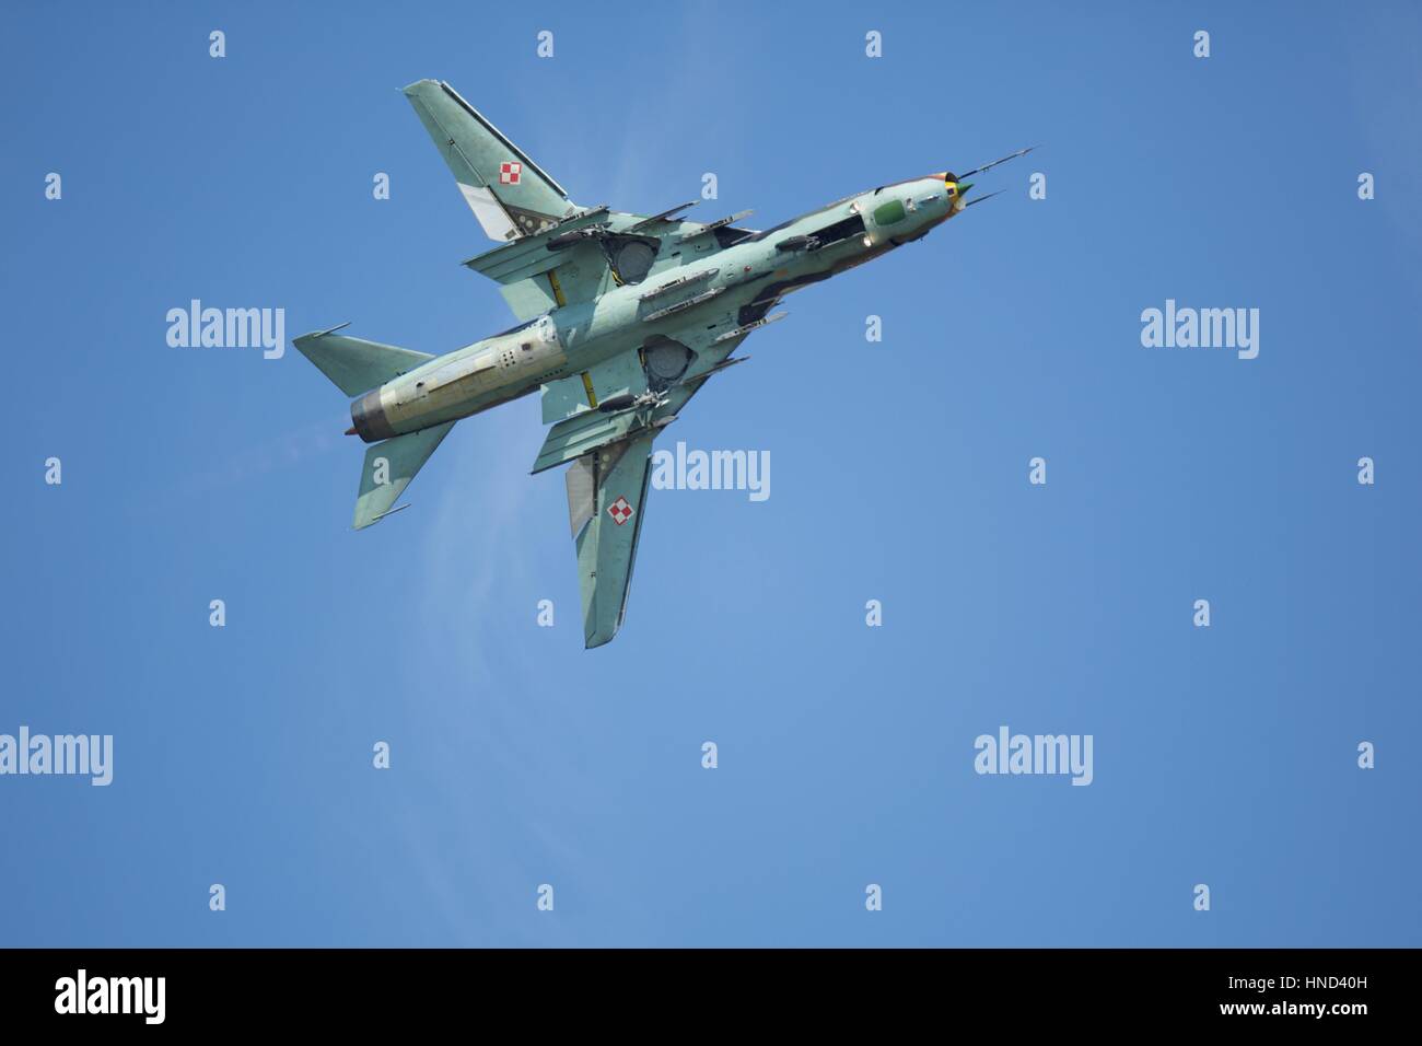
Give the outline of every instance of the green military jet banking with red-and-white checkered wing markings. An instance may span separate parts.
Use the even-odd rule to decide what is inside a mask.
[[[966,175],[882,185],[755,231],[749,211],[714,222],[579,206],[469,102],[437,80],[404,88],[483,226],[502,241],[465,262],[499,283],[518,326],[444,356],[337,333],[293,344],[354,396],[348,435],[368,444],[354,525],[395,505],[459,418],[538,391],[552,426],[533,472],[567,470],[583,635],[621,628],[647,511],[651,443],[781,299],[926,236],[966,206]],[[997,194],[993,194],[997,195]]]

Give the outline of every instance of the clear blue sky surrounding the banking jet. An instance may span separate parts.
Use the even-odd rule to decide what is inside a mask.
[[[1415,6],[333,10],[3,16],[0,733],[115,766],[0,778],[0,944],[1422,944]],[[656,491],[584,652],[535,398],[357,534],[346,397],[165,342],[195,297],[510,324],[421,77],[580,204],[715,172],[700,216],[758,228],[1044,148],[747,342],[663,444],[766,450],[772,497]],[[1166,299],[1260,309],[1258,359],[1143,347]],[[977,776],[1003,724],[1094,783]]]

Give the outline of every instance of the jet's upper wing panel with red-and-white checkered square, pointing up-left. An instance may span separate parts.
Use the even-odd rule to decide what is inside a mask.
[[[489,239],[530,236],[577,209],[562,185],[449,84],[421,80],[405,88],[405,97]]]

